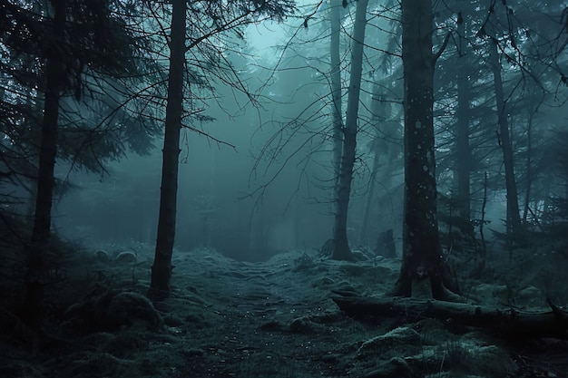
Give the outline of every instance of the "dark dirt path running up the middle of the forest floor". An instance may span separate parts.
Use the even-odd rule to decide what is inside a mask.
[[[188,334],[195,344],[202,345],[205,355],[191,358],[180,376],[342,376],[344,372],[322,358],[344,343],[338,335],[345,319],[329,318],[330,301],[314,303],[313,293],[299,290],[298,283],[275,275],[269,267],[243,264],[238,270],[220,272],[215,280],[219,287],[212,291],[219,300],[211,307],[211,324],[214,334],[222,337],[213,339],[209,327]],[[303,324],[326,316],[327,332],[317,337],[313,325]]]

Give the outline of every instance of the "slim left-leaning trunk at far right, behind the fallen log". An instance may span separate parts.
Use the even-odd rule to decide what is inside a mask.
[[[499,145],[501,146],[501,150],[503,150],[504,179],[507,191],[507,233],[509,237],[514,238],[521,235],[521,215],[519,213],[516,182],[514,181],[513,145],[511,144],[509,134],[509,123],[507,121],[506,104],[504,102],[503,78],[501,77],[501,64],[499,63],[497,40],[495,38],[491,38],[489,42],[489,56],[495,82],[495,102],[499,121]]]

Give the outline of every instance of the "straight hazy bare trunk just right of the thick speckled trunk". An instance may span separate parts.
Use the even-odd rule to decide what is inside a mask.
[[[461,19],[461,15],[460,15]],[[467,55],[463,53],[465,44],[464,21],[458,22],[457,32],[459,34],[458,65],[462,66],[467,60]],[[455,118],[457,122],[455,136],[455,173],[457,176],[457,207],[459,216],[465,220],[471,220],[471,193],[470,193],[470,171],[471,171],[471,148],[469,146],[469,102],[470,89],[467,81],[467,73],[464,70],[457,72],[457,110]],[[462,230],[473,233],[473,228]]]

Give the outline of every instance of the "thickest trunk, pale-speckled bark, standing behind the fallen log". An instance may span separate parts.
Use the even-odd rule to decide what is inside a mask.
[[[405,214],[403,261],[393,294],[443,299],[446,288],[436,218],[432,2],[403,0],[402,24]]]

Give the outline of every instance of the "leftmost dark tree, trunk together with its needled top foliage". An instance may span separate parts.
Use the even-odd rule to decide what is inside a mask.
[[[11,53],[34,57],[38,65],[27,76],[30,92],[43,92],[39,135],[34,222],[27,245],[27,274],[23,317],[33,334],[37,351],[41,335],[41,307],[46,272],[44,257],[51,236],[54,167],[64,96],[82,97],[83,73],[119,75],[134,71],[129,35],[110,15],[106,2],[52,0],[32,9],[17,2],[3,2],[2,41]],[[26,77],[26,76],[20,76]],[[30,80],[29,78],[32,78]],[[23,141],[33,144],[34,141]]]

